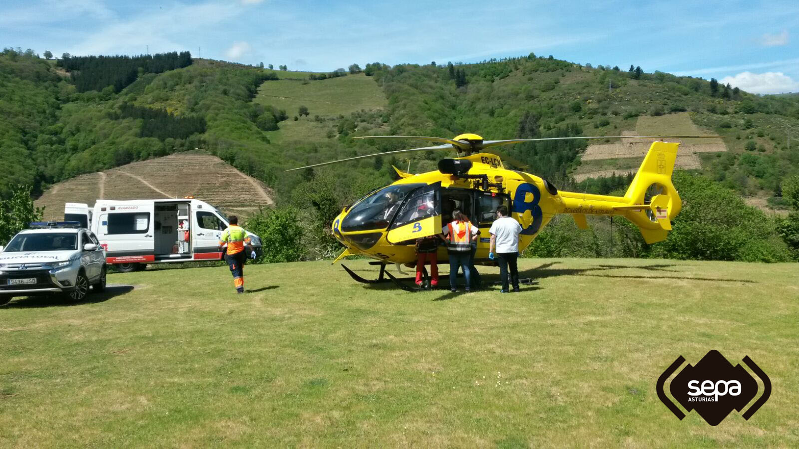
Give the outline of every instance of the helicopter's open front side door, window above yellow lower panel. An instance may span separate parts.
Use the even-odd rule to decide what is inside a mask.
[[[441,183],[424,185],[408,193],[388,229],[386,240],[400,244],[441,233]]]

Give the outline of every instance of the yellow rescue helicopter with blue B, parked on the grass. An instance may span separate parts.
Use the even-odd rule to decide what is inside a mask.
[[[697,138],[718,136],[618,136],[663,139],[666,137]],[[443,224],[451,220],[453,209],[460,209],[471,217],[472,224],[480,229],[475,253],[475,264],[493,264],[488,258],[488,229],[495,220],[500,205],[506,205],[511,217],[522,226],[519,251],[523,251],[539,235],[555,214],[568,213],[579,228],[588,228],[586,215],[621,216],[640,229],[646,243],[666,240],[671,230],[671,220],[680,213],[682,201],[671,182],[674,161],[679,143],[653,141],[638,173],[623,197],[594,195],[590,193],[561,192],[550,181],[519,170],[506,169],[502,154],[494,147],[526,141],[563,139],[606,139],[597,137],[545,137],[536,139],[509,139],[487,141],[477,134],[460,134],[452,139],[416,136],[364,136],[356,139],[421,139],[443,142],[442,145],[414,149],[400,149],[384,153],[367,154],[338,161],[307,165],[308,169],[322,165],[353,161],[366,157],[379,157],[415,151],[454,149],[458,157],[442,159],[438,170],[411,174],[394,167],[400,175],[382,189],[377,189],[352,205],[345,207],[333,221],[332,232],[346,246],[333,261],[361,254],[380,265],[377,280],[366,280],[342,265],[354,280],[371,284],[393,281],[400,288],[415,290],[385,271],[387,264],[414,267],[416,264],[415,240],[434,236]],[[508,162],[510,158],[505,157]],[[513,164],[511,162],[511,164]],[[515,165],[519,165],[516,163]],[[287,171],[291,171],[287,170]],[[446,248],[439,247],[439,264],[447,263]],[[384,278],[388,275],[389,280]]]

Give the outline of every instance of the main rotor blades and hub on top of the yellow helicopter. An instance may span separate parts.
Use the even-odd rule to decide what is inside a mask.
[[[423,141],[434,141],[434,142],[443,142],[443,145],[433,145],[433,146],[423,146],[419,148],[411,148],[411,149],[398,149],[395,151],[385,151],[383,153],[372,153],[372,154],[364,154],[363,156],[356,156],[356,157],[348,157],[346,159],[339,159],[338,161],[328,161],[322,162],[320,164],[313,164],[313,165],[305,165],[304,167],[297,167],[296,169],[288,169],[285,170],[287,172],[291,172],[293,170],[300,170],[300,169],[310,169],[313,167],[321,167],[323,165],[331,165],[331,164],[338,164],[340,162],[347,162],[347,161],[356,161],[358,159],[365,159],[368,157],[380,157],[392,154],[400,154],[400,153],[410,153],[413,151],[433,151],[433,150],[441,150],[441,149],[454,149],[458,156],[470,156],[472,153],[479,153],[481,151],[485,151],[486,153],[493,153],[503,159],[503,161],[507,161],[511,163],[511,165],[518,166],[519,168],[527,167],[526,164],[520,161],[516,161],[513,157],[507,155],[498,149],[494,149],[494,147],[500,145],[511,145],[511,144],[519,144],[523,142],[535,142],[535,141],[570,141],[570,140],[577,140],[577,139],[613,139],[613,138],[639,138],[639,139],[655,139],[655,140],[662,140],[666,138],[676,138],[676,139],[710,139],[710,138],[721,138],[721,136],[578,136],[578,137],[538,137],[535,139],[506,139],[500,141],[486,141],[483,140],[483,137],[477,134],[465,133],[460,134],[459,136],[455,136],[455,138],[447,139],[445,137],[426,137],[426,136],[359,136],[359,137],[352,137],[354,139],[414,139],[414,140],[423,140]]]

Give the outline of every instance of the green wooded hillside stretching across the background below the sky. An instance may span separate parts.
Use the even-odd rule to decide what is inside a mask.
[[[376,157],[284,173],[421,143],[355,141],[353,136],[718,134],[721,140],[710,149],[684,141],[678,167],[753,197],[750,202],[764,209],[789,208],[781,196],[783,185],[799,173],[796,95],[759,97],[715,80],[632,67],[594,68],[533,54],[447,66],[375,62],[363,72],[324,76],[187,60],[186,55],[154,55],[132,71],[139,59],[73,58],[54,65],[6,49],[0,54],[0,110],[10,119],[0,124],[0,193],[29,184],[38,195],[80,174],[203,149],[264,182],[276,194],[278,208],[299,213],[287,217],[311,223],[316,243],[310,245],[326,242],[323,249],[307,252],[313,258],[336,252],[339,246],[327,231],[332,217],[341,206],[395,179],[391,165],[419,173],[435,169],[436,161],[449,155]],[[182,68],[165,69],[169,64]],[[64,70],[70,67],[81,70]],[[124,79],[110,77],[113,85],[102,89],[87,87],[102,85],[116,67],[127,74]],[[616,154],[619,145],[631,150]],[[634,153],[635,145],[608,138],[591,146],[544,141],[503,151],[560,189],[610,193],[622,190],[627,179],[614,173],[638,166],[642,153]],[[592,179],[597,176],[604,177]]]

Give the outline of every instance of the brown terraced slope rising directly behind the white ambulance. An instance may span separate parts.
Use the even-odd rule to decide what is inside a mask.
[[[229,213],[248,215],[274,204],[272,190],[220,158],[177,153],[60,182],[36,201],[48,220],[63,217],[64,203],[193,196]]]

